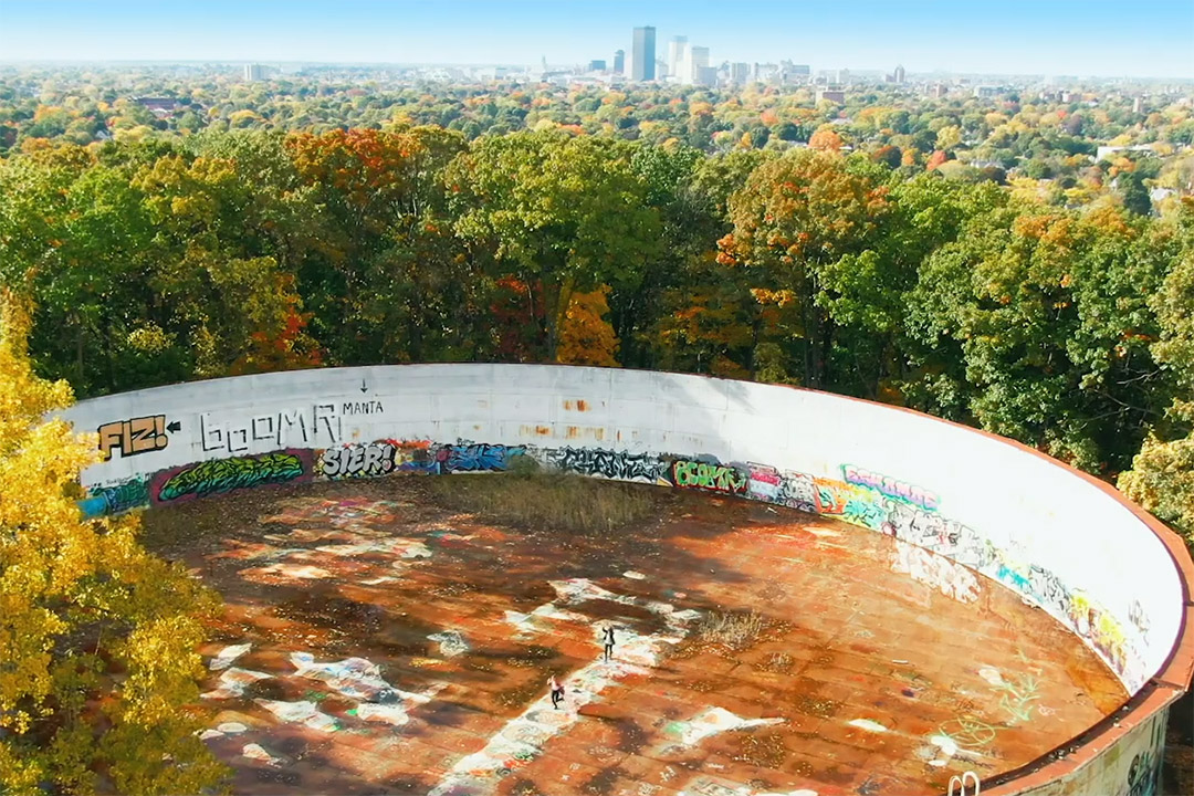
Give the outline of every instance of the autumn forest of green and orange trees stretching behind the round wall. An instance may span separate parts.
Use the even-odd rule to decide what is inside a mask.
[[[1194,530],[1188,98],[143,80],[177,107],[0,82],[0,285],[78,397],[407,362],[750,378],[980,426]]]

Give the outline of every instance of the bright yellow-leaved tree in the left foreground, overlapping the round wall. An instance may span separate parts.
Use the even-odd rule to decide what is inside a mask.
[[[0,294],[0,792],[198,792],[224,777],[186,709],[216,599],[135,517],[84,520],[94,434],[43,420],[72,394],[32,374],[27,331]]]

